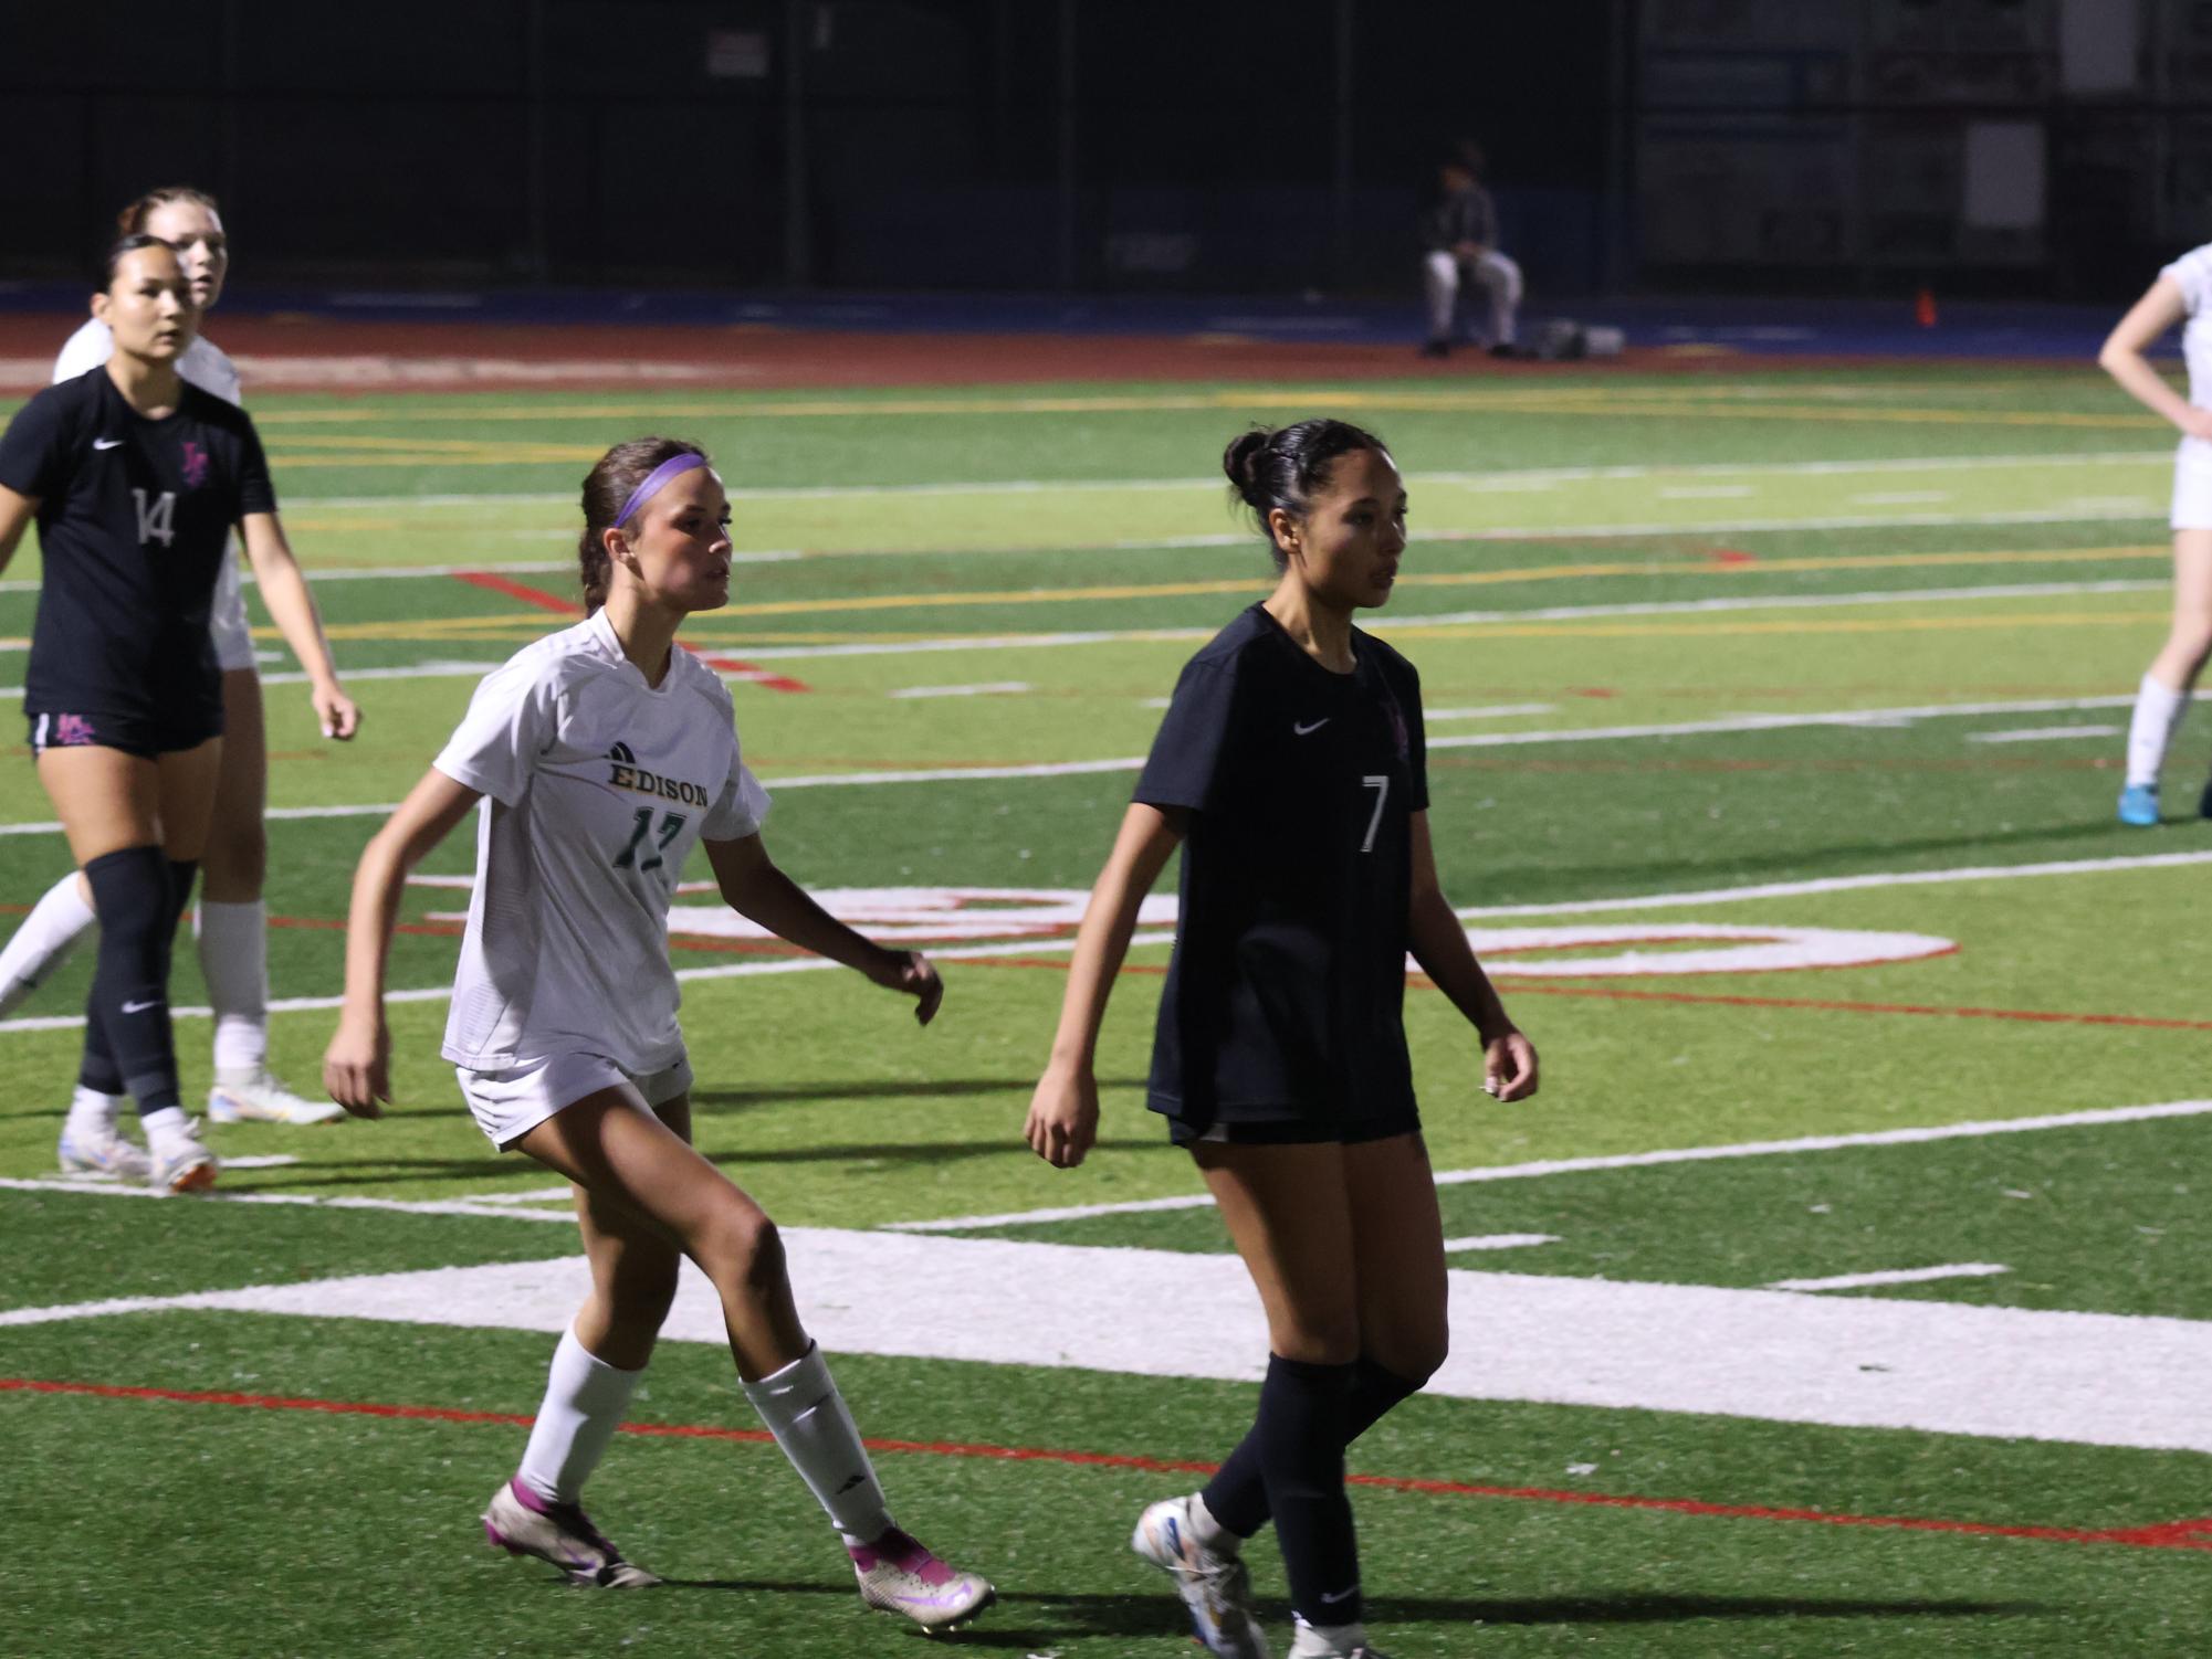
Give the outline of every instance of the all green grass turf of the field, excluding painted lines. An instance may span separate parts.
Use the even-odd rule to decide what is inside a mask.
[[[564,501],[584,462],[615,435],[672,429],[703,437],[732,486],[768,490],[737,504],[741,548],[825,554],[741,566],[737,610],[695,623],[710,647],[1175,634],[774,658],[810,691],[739,687],[748,755],[772,789],[821,773],[1141,753],[1159,718],[1152,700],[1194,638],[1265,588],[1256,543],[1203,541],[1239,535],[1208,482],[1212,457],[1245,420],[1323,406],[1378,426],[1409,468],[1416,546],[1407,572],[1416,579],[1376,623],[1398,623],[1391,638],[1420,665],[1427,705],[1551,705],[1438,718],[1438,742],[2117,696],[2163,632],[2163,594],[2143,583],[2166,574],[2166,466],[2157,459],[2166,435],[2088,373],[254,402],[296,541],[325,568],[562,561]],[[2004,455],[2039,459],[1940,466]],[[1916,466],[1803,471],[1898,459]],[[1575,466],[1635,471],[1546,475]],[[1469,473],[1480,477],[1458,477]],[[776,495],[1024,479],[1181,484]],[[447,504],[442,495],[520,499]],[[2004,521],[2017,515],[2039,519]],[[1838,517],[1876,524],[1829,524]],[[1577,532],[1551,535],[1562,528]],[[1438,539],[1420,541],[1422,530]],[[1522,535],[1444,535],[1500,530]],[[1126,539],[1172,546],[1106,546]],[[9,577],[35,577],[33,550]],[[520,579],[566,592],[560,570]],[[1995,592],[2022,583],[2057,588]],[[1865,594],[1902,599],[1854,599]],[[352,669],[495,663],[557,625],[549,612],[449,577],[330,581],[319,596]],[[1745,599],[1814,603],[1526,614]],[[31,605],[27,592],[0,592],[0,638],[29,632]],[[1460,612],[1504,616],[1405,627]],[[20,654],[0,656],[0,685],[20,680]],[[889,696],[1002,680],[1031,689]],[[349,749],[314,733],[299,687],[272,685],[272,804],[396,800],[436,753],[471,683],[467,674],[361,678],[369,725]],[[2174,822],[2154,835],[2110,822],[2119,740],[2086,729],[2124,718],[2126,709],[2088,707],[1905,727],[1436,747],[1438,857],[1458,904],[1540,906],[2212,850],[2212,835],[2183,820],[2201,755],[2188,738],[2170,793]],[[2084,736],[1971,742],[2046,727]],[[44,822],[49,806],[27,767],[18,780],[0,797],[0,822]],[[768,839],[814,886],[1079,890],[1130,780],[1124,771],[785,789]],[[369,815],[272,822],[270,908],[321,923],[272,932],[279,996],[336,992],[341,934],[327,923],[343,915],[352,859],[374,824]],[[0,837],[0,899],[29,904],[60,857],[51,833]],[[469,859],[460,833],[425,868],[458,873]],[[1568,917],[1655,930],[1668,919],[1916,930],[1955,939],[1960,950],[1827,972],[1506,979],[1546,1060],[1542,1098],[1517,1109],[1475,1091],[1464,1025],[1433,992],[1411,990],[1431,1153],[1442,1169],[1469,1169],[2199,1096],[2205,1032],[2192,1023],[2205,1018],[2197,987],[2212,970],[2212,945],[2166,921],[2188,915],[2199,886],[2199,868],[2183,866]],[[416,890],[405,915],[422,921],[458,908],[451,890]],[[734,961],[677,957],[681,968]],[[440,985],[451,961],[447,934],[400,937],[394,985]],[[1157,948],[1133,957],[1137,968],[1161,961]],[[86,970],[80,957],[20,1012],[69,1016],[82,1005]],[[699,1067],[701,1146],[774,1215],[805,1226],[1197,1191],[1188,1160],[1161,1144],[1141,1109],[1157,976],[1135,972],[1117,990],[1099,1060],[1106,1140],[1073,1175],[1044,1169],[1015,1140],[1062,976],[949,963],[947,979],[951,998],[929,1032],[843,974],[695,981],[686,1029]],[[177,1001],[197,998],[197,968],[181,952]],[[1794,1005],[1807,1001],[1858,1007]],[[281,1014],[279,1069],[310,1080],[330,1018]],[[385,1122],[221,1131],[232,1155],[299,1160],[230,1171],[226,1193],[316,1204],[7,1191],[0,1233],[31,1244],[9,1253],[0,1301],[27,1308],[568,1253],[573,1235],[557,1224],[325,1202],[553,1184],[518,1158],[493,1155],[460,1111],[436,1058],[442,1003],[396,1005],[392,1018],[398,1107]],[[206,1087],[206,1029],[179,1025],[190,1089]],[[0,1034],[0,1175],[51,1173],[75,1040],[71,1029]],[[1559,1235],[1553,1246],[1458,1266],[1717,1286],[1982,1259],[2011,1272],[1871,1295],[2205,1317],[2192,1277],[2203,1230],[2192,1193],[2201,1124],[1449,1186],[1447,1233]],[[1210,1211],[1013,1233],[1225,1248]],[[0,1374],[529,1412],[546,1345],[513,1332],[166,1312],[0,1328]],[[841,1376],[872,1434],[1159,1458],[1219,1456],[1252,1407],[1252,1389],[1239,1385],[1088,1372],[854,1356],[841,1361]],[[726,1361],[701,1345],[668,1348],[635,1416],[750,1425],[732,1405]],[[825,1659],[911,1650],[909,1632],[858,1613],[796,1482],[757,1447],[624,1440],[595,1484],[595,1509],[635,1555],[697,1584],[593,1597],[562,1593],[535,1564],[476,1544],[471,1518],[513,1456],[513,1429],[22,1394],[0,1396],[0,1425],[18,1515],[7,1538],[24,1586],[11,1650],[628,1644],[699,1652],[759,1644]],[[1124,1549],[1133,1513],[1164,1489],[1159,1476],[922,1456],[885,1462],[902,1513],[964,1549],[1006,1591],[971,1646],[1057,1659],[1181,1650],[1175,1606]],[[1416,1401],[1363,1443],[1354,1467],[2053,1526],[2141,1526],[2205,1509],[2203,1462],[2190,1454],[1515,1403]],[[2201,1568],[2183,1551],[1387,1491],[1358,1502],[1374,1619],[1400,1659],[2181,1655],[2201,1652],[2212,1628],[2192,1595]],[[1254,1566],[1281,1621],[1281,1568],[1265,1549]],[[122,1599],[113,1593],[122,1582],[164,1595]]]

